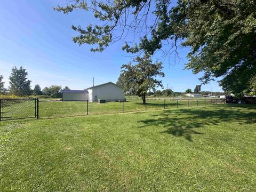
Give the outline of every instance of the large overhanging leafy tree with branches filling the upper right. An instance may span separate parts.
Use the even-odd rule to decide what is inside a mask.
[[[130,53],[161,50],[176,53],[179,45],[190,47],[186,69],[203,72],[208,83],[220,77],[220,85],[233,93],[253,91],[256,76],[255,0],[116,0],[68,1],[54,10],[65,14],[74,10],[94,13],[100,22],[86,27],[72,26],[78,35],[73,41],[95,45],[91,51],[133,34],[123,50]]]

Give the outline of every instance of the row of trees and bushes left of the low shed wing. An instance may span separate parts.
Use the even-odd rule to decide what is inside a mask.
[[[0,94],[12,94],[18,97],[25,97],[29,95],[46,95],[47,97],[60,98],[61,86],[52,85],[45,87],[41,90],[41,87],[36,84],[34,89],[31,89],[31,81],[28,79],[28,72],[25,68],[12,68],[11,75],[9,77],[10,86],[8,89],[4,87],[3,75],[0,75]],[[63,90],[70,90],[68,86],[65,86]]]

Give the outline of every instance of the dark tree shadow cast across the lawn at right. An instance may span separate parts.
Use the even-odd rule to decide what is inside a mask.
[[[175,137],[185,137],[192,141],[193,134],[204,134],[196,131],[207,125],[218,125],[222,122],[237,122],[239,124],[256,123],[256,105],[212,106],[211,108],[183,108],[179,110],[163,110],[153,118],[139,121],[141,127],[163,126],[162,133]]]

